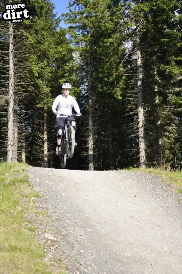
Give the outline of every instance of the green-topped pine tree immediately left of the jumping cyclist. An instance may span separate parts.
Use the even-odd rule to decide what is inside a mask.
[[[55,135],[51,111],[52,97],[55,96],[57,87],[60,87],[60,79],[55,75],[59,75],[61,69],[58,67],[64,64],[65,56],[68,55],[70,58],[71,53],[68,54],[68,45],[61,45],[64,40],[66,41],[66,37],[65,33],[58,29],[60,19],[53,13],[54,4],[48,0],[37,4],[39,5],[35,6],[34,20],[26,26],[27,38],[32,43],[31,49],[34,52],[29,56],[29,79],[33,84],[29,87],[32,93],[32,132],[28,154],[32,155],[34,164],[48,167],[48,162],[52,163],[52,135]],[[29,110],[30,105],[26,107]]]

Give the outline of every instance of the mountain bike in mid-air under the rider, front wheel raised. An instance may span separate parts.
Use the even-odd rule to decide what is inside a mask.
[[[67,116],[64,119],[64,131],[61,139],[61,149],[60,149],[61,167],[65,168],[67,155],[69,158],[72,158],[75,150],[75,130],[68,116],[80,116],[80,115],[78,114],[72,114],[72,115],[58,114],[58,115],[60,117]]]

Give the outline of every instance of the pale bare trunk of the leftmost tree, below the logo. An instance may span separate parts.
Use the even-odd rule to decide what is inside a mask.
[[[13,25],[9,22],[9,106],[8,106],[8,148],[7,160],[8,163],[13,162],[13,143],[14,143],[14,48],[13,48]]]

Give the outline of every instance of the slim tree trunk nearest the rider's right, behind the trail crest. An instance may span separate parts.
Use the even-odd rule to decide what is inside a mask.
[[[89,34],[89,31],[87,31]],[[87,44],[87,78],[88,78],[88,170],[94,170],[93,158],[93,120],[92,120],[92,91],[91,91],[91,65],[89,44]]]

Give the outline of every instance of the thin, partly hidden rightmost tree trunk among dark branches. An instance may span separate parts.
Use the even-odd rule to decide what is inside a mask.
[[[155,68],[155,92],[156,92],[156,128],[157,128],[157,163],[161,166],[162,161],[162,149],[161,149],[161,123],[160,123],[160,108],[159,108],[159,93],[158,93],[158,86],[157,86],[157,68]]]

